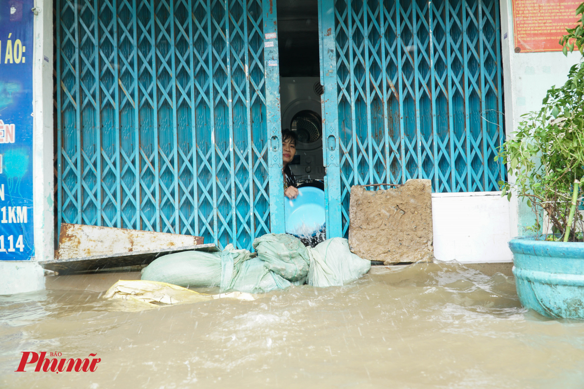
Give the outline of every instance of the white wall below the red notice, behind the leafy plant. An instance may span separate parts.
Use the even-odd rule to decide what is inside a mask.
[[[562,85],[568,71],[580,60],[580,53],[515,53],[513,44],[512,0],[502,0],[501,36],[503,79],[505,80],[505,132],[507,138],[521,121],[521,115],[541,108],[541,100],[552,85]],[[512,179],[512,177],[510,178]],[[513,196],[509,204],[511,235],[523,235],[524,228],[535,223],[531,209]]]

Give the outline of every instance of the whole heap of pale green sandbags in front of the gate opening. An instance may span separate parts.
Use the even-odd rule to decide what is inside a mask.
[[[315,248],[287,234],[253,241],[257,255],[228,245],[222,252],[184,251],[161,256],[142,270],[142,280],[182,287],[219,286],[222,291],[265,293],[292,284],[340,286],[369,271],[371,262],[349,249],[347,239],[328,239]]]

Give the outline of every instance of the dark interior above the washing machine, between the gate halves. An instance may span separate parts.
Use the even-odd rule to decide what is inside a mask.
[[[279,0],[280,77],[319,77],[318,1]]]

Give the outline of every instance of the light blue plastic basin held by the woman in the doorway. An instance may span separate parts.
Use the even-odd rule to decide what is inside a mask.
[[[318,187],[298,189],[298,197],[284,197],[286,233],[296,236],[314,236],[325,224],[325,192]]]

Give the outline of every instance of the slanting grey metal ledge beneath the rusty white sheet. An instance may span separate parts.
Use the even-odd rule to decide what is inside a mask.
[[[53,270],[60,275],[79,273],[87,271],[95,271],[99,269],[114,269],[124,266],[148,265],[159,256],[171,254],[180,251],[220,251],[213,243],[203,245],[190,245],[173,247],[166,249],[154,249],[143,251],[131,251],[121,253],[108,253],[102,255],[82,256],[77,258],[62,258],[53,259],[52,261],[40,261],[39,265],[44,269]]]

